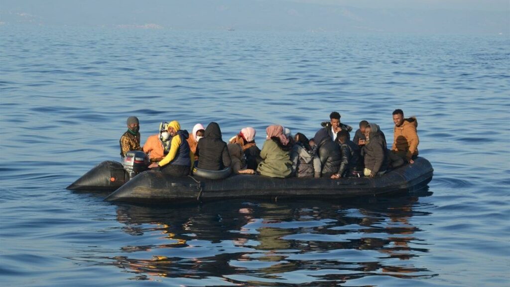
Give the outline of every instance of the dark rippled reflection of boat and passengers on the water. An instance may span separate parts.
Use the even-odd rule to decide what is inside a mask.
[[[420,196],[428,196],[424,192]],[[137,245],[96,258],[137,280],[184,284],[330,285],[366,276],[435,276],[416,260],[432,244],[414,217],[418,196],[358,202],[238,202],[194,207],[119,205],[117,220]],[[426,227],[426,226],[425,226]]]

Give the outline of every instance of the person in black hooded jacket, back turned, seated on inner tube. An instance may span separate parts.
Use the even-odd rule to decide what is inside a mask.
[[[195,155],[198,156],[198,168],[219,171],[230,167],[231,159],[226,142],[221,139],[221,130],[217,123],[210,123],[203,138],[198,141]]]

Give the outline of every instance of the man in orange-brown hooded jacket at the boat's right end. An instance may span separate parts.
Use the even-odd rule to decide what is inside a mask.
[[[418,120],[416,117],[404,118],[404,112],[401,109],[393,111],[393,145],[391,151],[400,156],[409,163],[414,163],[418,156]]]

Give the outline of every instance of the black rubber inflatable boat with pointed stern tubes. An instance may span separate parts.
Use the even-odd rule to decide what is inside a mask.
[[[173,177],[158,171],[130,176],[123,165],[105,161],[69,185],[73,190],[115,190],[105,200],[129,203],[196,202],[234,198],[342,198],[377,196],[417,190],[432,179],[433,169],[422,157],[374,178],[270,178],[233,175],[225,179]]]

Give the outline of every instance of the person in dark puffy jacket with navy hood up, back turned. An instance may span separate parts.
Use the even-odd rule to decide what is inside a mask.
[[[322,177],[330,178],[338,173],[341,155],[340,146],[329,136],[329,128],[320,129],[314,136],[314,142],[319,151]]]

